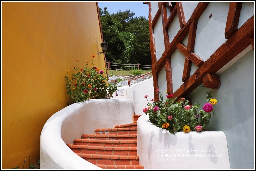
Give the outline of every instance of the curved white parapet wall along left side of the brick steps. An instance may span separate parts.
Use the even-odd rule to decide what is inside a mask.
[[[40,168],[101,169],[79,157],[66,144],[73,144],[81,134],[94,134],[95,128],[133,123],[132,115],[133,102],[127,99],[91,99],[56,112],[41,132]]]

